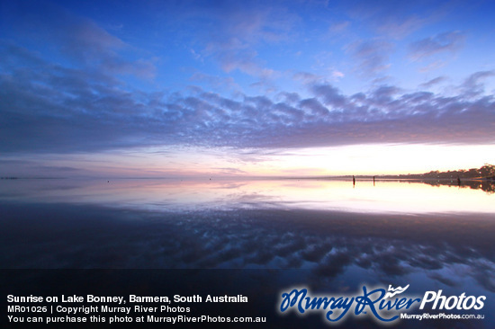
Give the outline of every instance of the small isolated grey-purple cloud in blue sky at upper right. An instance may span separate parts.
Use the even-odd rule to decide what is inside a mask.
[[[429,58],[440,52],[455,53],[464,44],[464,34],[460,31],[449,31],[410,44],[409,56],[412,60]]]

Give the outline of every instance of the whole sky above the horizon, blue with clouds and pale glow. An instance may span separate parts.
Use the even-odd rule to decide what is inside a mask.
[[[495,164],[493,1],[0,0],[0,176]]]

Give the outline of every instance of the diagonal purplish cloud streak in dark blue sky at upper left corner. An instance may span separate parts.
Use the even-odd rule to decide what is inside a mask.
[[[14,35],[20,39],[43,40],[42,56],[63,55],[75,67],[105,75],[138,76],[151,79],[156,75],[157,58],[140,57],[120,38],[105,31],[94,21],[69,13],[56,4],[13,4],[8,9],[17,21]]]

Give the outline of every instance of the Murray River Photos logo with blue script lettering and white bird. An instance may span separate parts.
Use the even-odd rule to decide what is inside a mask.
[[[425,307],[433,310],[480,310],[484,307],[485,296],[444,296],[442,290],[426,291],[424,296],[407,296],[404,292],[410,287],[389,289],[368,289],[363,286],[362,293],[346,296],[311,296],[308,289],[292,289],[283,292],[280,299],[280,313],[296,312],[300,315],[308,312],[323,313],[331,323],[344,320],[347,316],[373,316],[383,323],[392,323],[401,315]]]

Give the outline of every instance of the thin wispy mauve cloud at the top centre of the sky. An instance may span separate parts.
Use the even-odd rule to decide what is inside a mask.
[[[191,9],[188,19],[202,31],[195,42],[202,45],[203,58],[213,58],[226,73],[238,70],[264,79],[276,72],[266,67],[257,49],[290,40],[299,21],[296,14],[276,4],[232,1]]]

